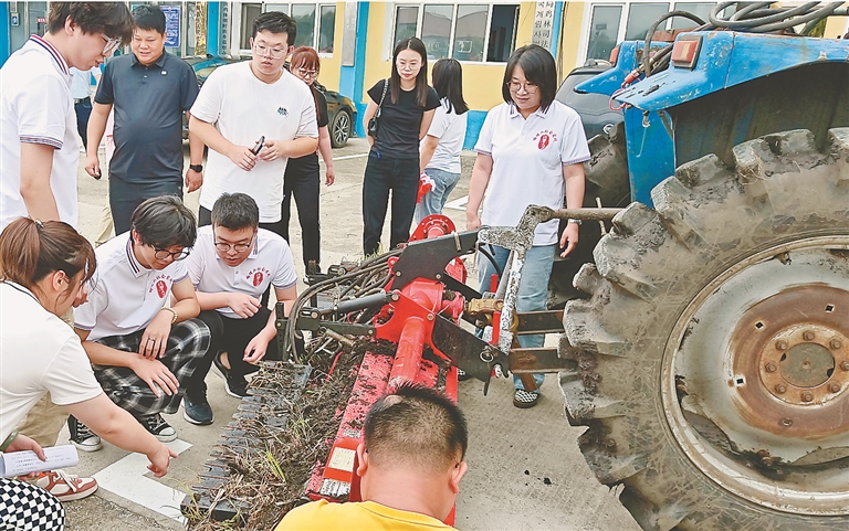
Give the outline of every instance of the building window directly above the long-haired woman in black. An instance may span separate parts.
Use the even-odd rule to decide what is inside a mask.
[[[422,4],[395,10],[395,43],[418,36],[429,60],[503,63],[516,46],[518,4]]]

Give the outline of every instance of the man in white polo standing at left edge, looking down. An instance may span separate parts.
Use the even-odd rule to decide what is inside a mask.
[[[71,66],[87,71],[133,36],[119,2],[53,2],[48,33],[0,70],[0,230],[29,215],[76,226],[80,142]]]

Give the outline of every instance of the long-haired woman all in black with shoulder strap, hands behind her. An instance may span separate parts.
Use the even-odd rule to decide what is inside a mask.
[[[376,138],[368,137],[371,151],[363,182],[363,252],[366,256],[376,254],[380,246],[390,190],[389,246],[395,247],[410,237],[419,191],[419,140],[428,134],[434,109],[440,105],[437,92],[428,86],[428,53],[419,39],[405,39],[395,46],[391,77],[377,82],[368,96],[371,100],[364,117],[365,128],[368,130],[368,121],[377,115],[378,129]]]

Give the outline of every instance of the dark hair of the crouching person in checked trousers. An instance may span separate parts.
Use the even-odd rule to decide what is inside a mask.
[[[176,195],[148,199],[133,211],[129,222],[138,243],[155,248],[191,247],[198,237],[195,214]]]

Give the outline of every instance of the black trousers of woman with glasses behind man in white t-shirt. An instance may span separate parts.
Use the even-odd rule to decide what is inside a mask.
[[[290,159],[283,178],[283,204],[280,208],[281,229],[289,240],[289,220],[292,216],[292,197],[297,204],[297,220],[301,222],[301,245],[304,249],[304,266],[314,261],[318,265],[321,256],[321,221],[318,219],[318,194],[322,188],[318,173],[318,156],[310,153],[297,159]]]

